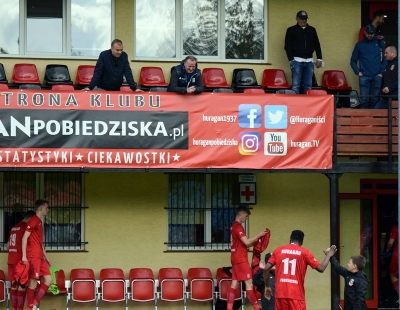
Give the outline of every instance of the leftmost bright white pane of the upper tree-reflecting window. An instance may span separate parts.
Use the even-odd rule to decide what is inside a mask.
[[[135,56],[176,56],[175,0],[137,0]]]

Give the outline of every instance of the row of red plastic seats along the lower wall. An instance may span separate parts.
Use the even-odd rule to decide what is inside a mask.
[[[96,308],[100,301],[150,302],[155,307],[159,300],[166,302],[183,301],[186,308],[187,300],[212,301],[215,305],[217,298],[226,300],[231,285],[231,277],[223,268],[216,271],[216,279],[208,268],[190,268],[187,279],[179,268],[161,268],[158,279],[155,279],[150,268],[132,268],[129,280],[125,280],[124,271],[120,268],[105,268],[96,279],[94,271],[88,268],[72,269],[70,279],[65,279],[63,270],[55,273],[56,284],[61,294],[66,294],[68,310],[70,302],[95,302]],[[0,270],[0,302],[8,301],[8,281]],[[186,289],[188,287],[188,289]],[[216,289],[217,288],[217,289]],[[243,299],[241,287],[236,290],[236,300]]]

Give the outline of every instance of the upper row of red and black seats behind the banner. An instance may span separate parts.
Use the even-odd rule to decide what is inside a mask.
[[[94,68],[95,66],[92,65],[78,66],[75,85],[78,87],[88,85],[92,79]],[[204,86],[209,90],[215,88],[231,88],[237,91],[243,91],[246,88],[262,88],[265,91],[290,89],[285,72],[280,69],[265,69],[261,85],[258,84],[253,69],[234,69],[231,85],[227,83],[225,73],[221,68],[204,68],[202,72]],[[40,79],[36,66],[34,64],[15,64],[12,82],[14,84],[39,85]],[[47,65],[43,82],[45,85],[73,85],[66,65]],[[2,64],[0,64],[0,83],[8,83]],[[150,89],[151,87],[167,87],[168,83],[165,81],[160,67],[142,67],[138,85],[142,89]],[[344,72],[338,70],[326,70],[323,73],[322,88],[351,90],[351,87],[347,85]]]

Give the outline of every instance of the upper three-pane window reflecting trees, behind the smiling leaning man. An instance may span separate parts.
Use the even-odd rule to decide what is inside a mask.
[[[266,60],[266,0],[136,0],[135,58]]]

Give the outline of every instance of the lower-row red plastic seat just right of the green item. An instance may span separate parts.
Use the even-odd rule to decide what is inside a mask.
[[[72,269],[70,280],[69,299],[75,302],[91,302],[97,299],[96,279],[92,269]]]

